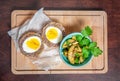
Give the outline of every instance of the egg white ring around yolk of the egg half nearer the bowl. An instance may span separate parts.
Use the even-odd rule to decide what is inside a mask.
[[[54,28],[57,33],[58,33],[58,36],[55,38],[55,39],[48,39],[50,42],[54,43],[54,44],[57,44],[59,43],[61,40],[62,40],[62,31],[59,29],[59,28],[56,28],[56,27],[53,27],[53,26],[50,26],[48,28],[46,28],[46,31],[45,31],[45,35],[47,36],[47,32],[48,30],[50,30],[51,28]],[[47,38],[47,37],[46,37]]]

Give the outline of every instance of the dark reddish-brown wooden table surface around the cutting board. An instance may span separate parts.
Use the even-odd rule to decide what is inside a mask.
[[[108,62],[106,74],[14,75],[11,72],[11,28],[13,10],[104,10],[108,14]],[[119,0],[0,0],[0,81],[120,81]]]

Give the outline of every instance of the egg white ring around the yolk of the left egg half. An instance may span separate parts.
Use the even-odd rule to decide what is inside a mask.
[[[40,46],[41,46],[41,39],[40,39],[39,37],[37,37],[37,36],[28,37],[28,38],[25,39],[25,41],[24,41],[23,44],[22,44],[22,48],[23,48],[23,50],[24,50],[26,53],[34,53],[34,52],[36,52],[36,51],[40,48],[40,46],[39,46],[36,50],[33,50],[33,49],[29,48],[29,47],[26,45],[26,44],[27,44],[27,41],[30,40],[30,39],[32,39],[32,38],[36,38],[36,39],[39,41]]]

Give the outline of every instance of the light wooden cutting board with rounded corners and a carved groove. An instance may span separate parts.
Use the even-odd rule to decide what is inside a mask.
[[[36,10],[13,11],[11,15],[11,28],[22,25],[35,12]],[[107,72],[107,14],[104,11],[45,10],[44,13],[53,21],[63,24],[66,34],[79,32],[86,25],[91,26],[93,29],[91,38],[98,43],[98,46],[103,50],[103,54],[99,57],[94,57],[84,67],[71,68],[62,62],[59,66],[49,71],[44,71],[33,65],[28,57],[17,52],[11,39],[11,67],[14,74],[98,74]]]

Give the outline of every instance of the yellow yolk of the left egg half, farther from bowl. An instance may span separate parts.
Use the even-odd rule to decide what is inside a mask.
[[[33,50],[37,50],[40,47],[40,41],[36,38],[31,38],[26,42],[26,45]]]

